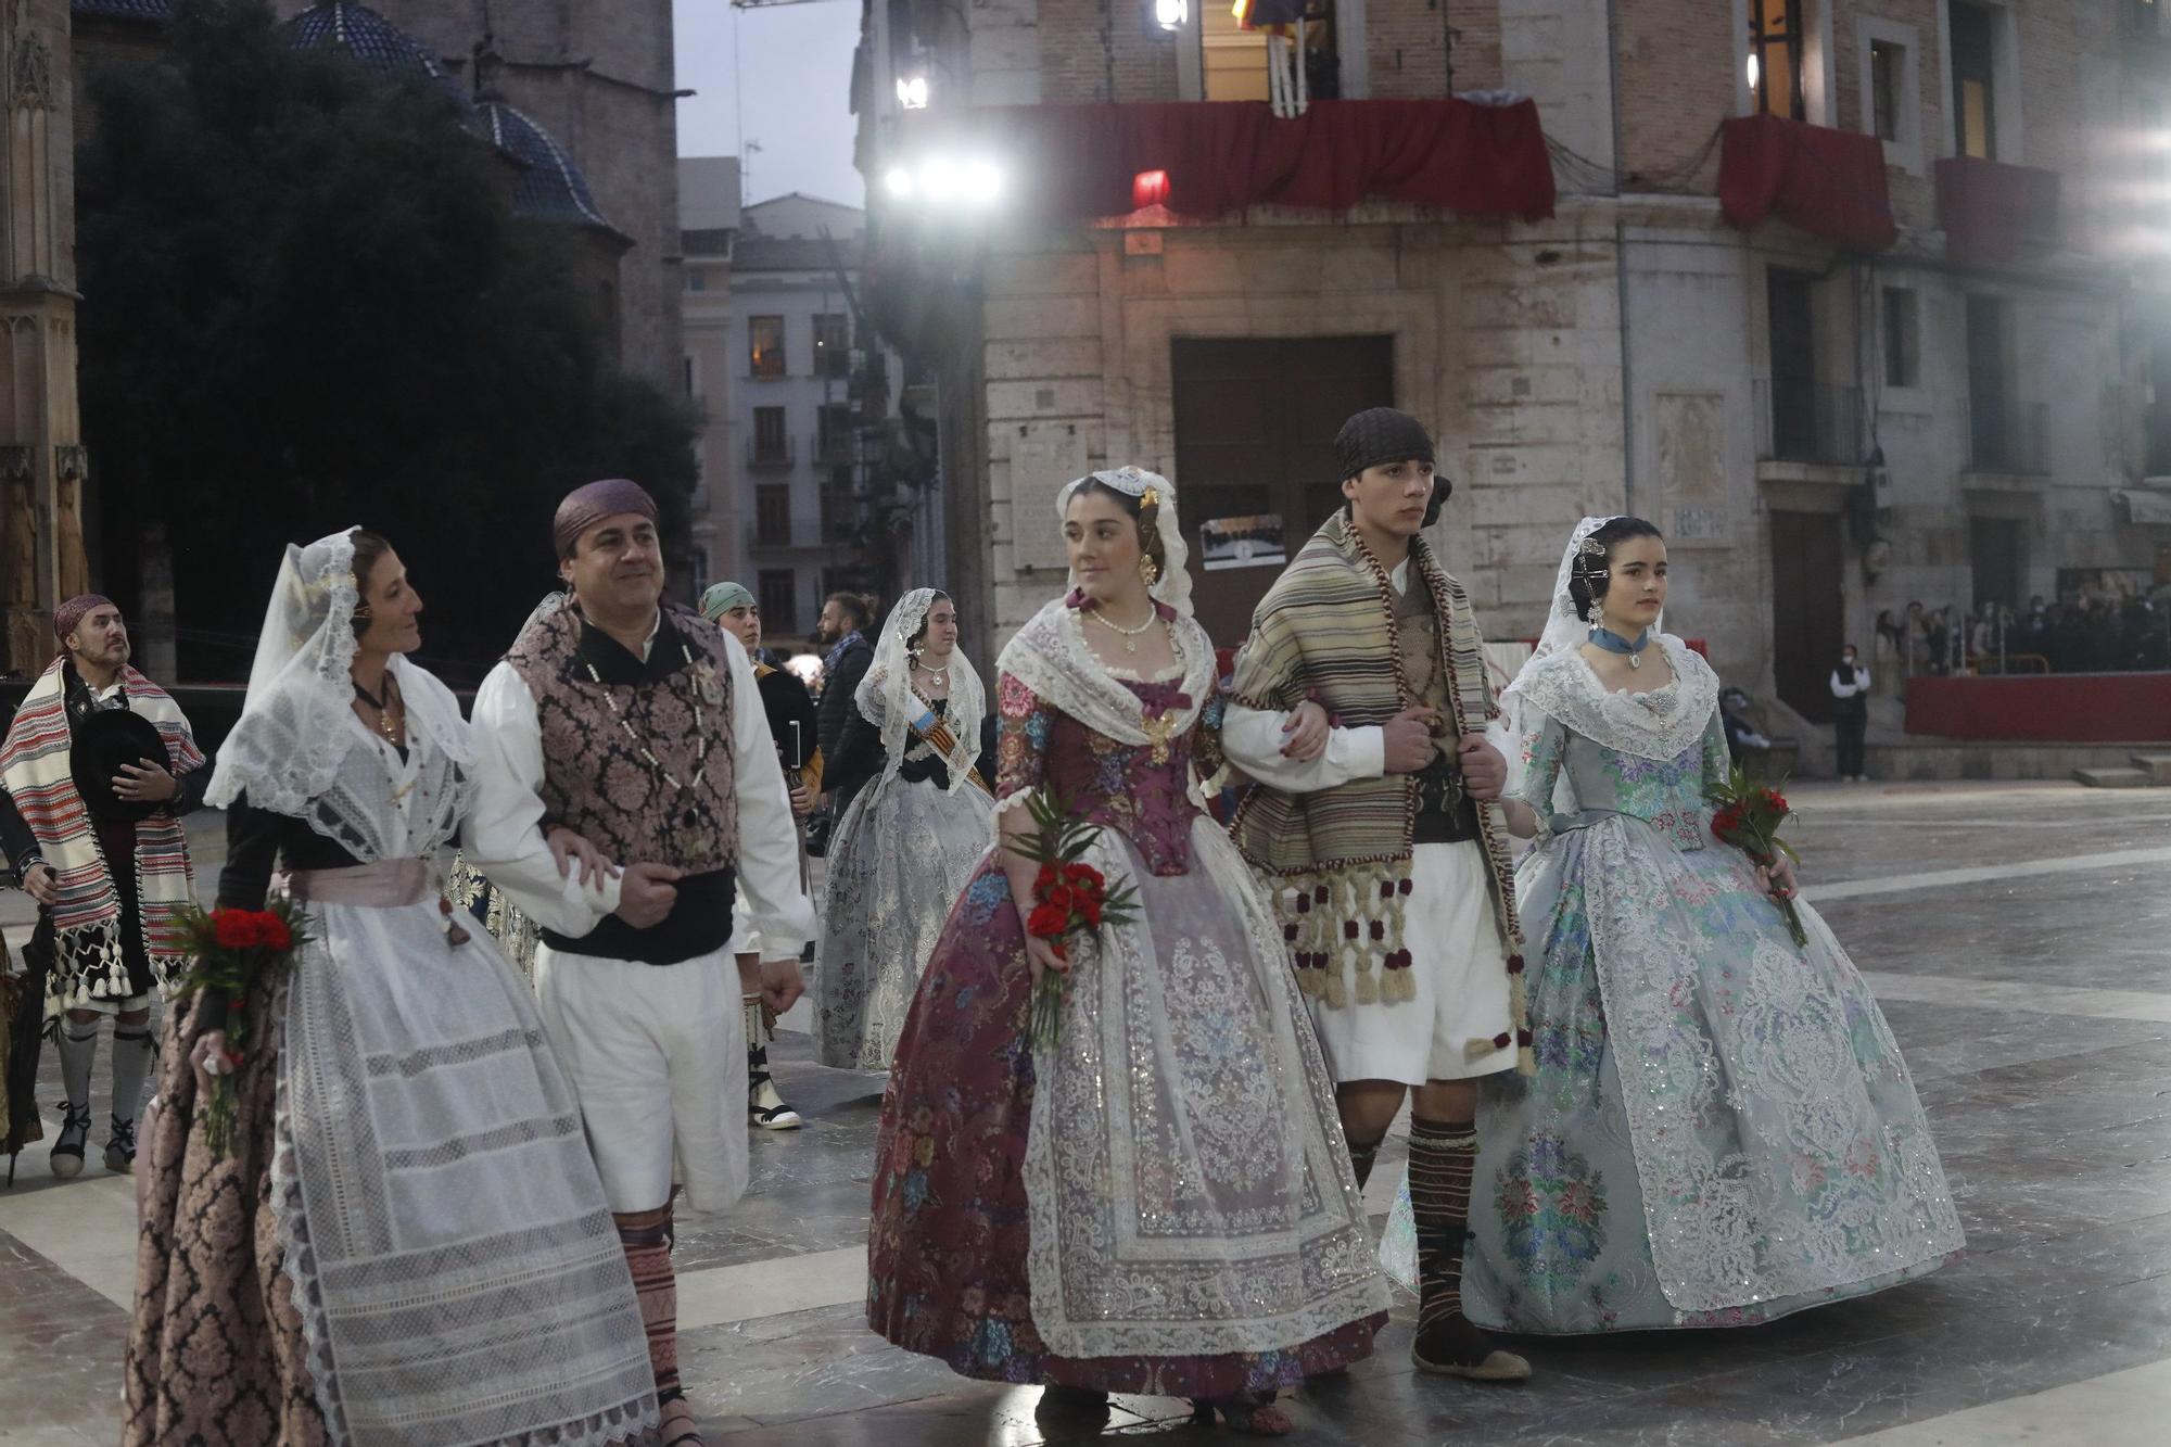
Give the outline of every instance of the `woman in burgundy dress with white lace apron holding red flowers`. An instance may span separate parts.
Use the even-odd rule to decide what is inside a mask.
[[[1138,915],[1027,941],[1036,865],[973,876],[921,978],[881,1106],[868,1323],[968,1377],[1190,1397],[1281,1436],[1272,1395],[1372,1351],[1387,1306],[1333,1084],[1281,926],[1203,813],[1214,650],[1166,480],[1062,489],[1072,591],[1003,650],[996,817],[1049,789]],[[1068,971],[1053,1041],[1033,982]]]

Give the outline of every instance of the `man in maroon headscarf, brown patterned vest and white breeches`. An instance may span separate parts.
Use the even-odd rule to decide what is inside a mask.
[[[541,930],[536,997],[619,1223],[649,1328],[666,1447],[695,1447],[677,1375],[671,1201],[747,1188],[747,1039],[732,960],[742,899],[801,993],[814,908],[784,771],[738,639],[662,602],[656,502],[627,480],[558,506],[571,593],[528,619],[475,695],[469,863]],[[584,863],[560,871],[554,832]],[[677,1171],[673,1171],[673,1162]]]

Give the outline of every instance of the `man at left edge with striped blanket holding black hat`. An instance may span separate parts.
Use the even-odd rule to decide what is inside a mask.
[[[61,656],[30,687],[0,745],[0,847],[37,902],[28,956],[46,960],[46,1019],[59,1019],[67,1091],[52,1173],[82,1173],[98,1021],[113,1017],[106,1169],[135,1169],[150,1073],[150,995],[185,965],[176,936],[195,904],[180,817],[204,802],[211,765],[189,719],[128,665],[111,600],[69,597],[52,615]],[[28,1008],[28,1004],[24,1006]]]

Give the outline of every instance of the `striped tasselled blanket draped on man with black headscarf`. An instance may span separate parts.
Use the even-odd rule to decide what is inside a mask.
[[[1422,537],[1411,541],[1409,558],[1442,613],[1442,667],[1455,732],[1483,730],[1498,706],[1470,597],[1433,561]],[[1385,724],[1415,702],[1402,671],[1387,569],[1344,513],[1311,534],[1259,602],[1250,639],[1237,656],[1233,700],[1272,713],[1318,700],[1353,728]],[[1231,826],[1237,847],[1266,878],[1283,915],[1298,982],[1331,1008],[1350,999],[1392,1006],[1415,995],[1411,954],[1402,941],[1415,808],[1418,787],[1407,773],[1318,793],[1261,784],[1246,795]],[[1518,1065],[1531,1069],[1522,926],[1496,804],[1478,806],[1478,832],[1494,921],[1509,956]]]

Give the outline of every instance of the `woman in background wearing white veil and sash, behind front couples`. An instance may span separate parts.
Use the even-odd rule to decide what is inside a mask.
[[[851,804],[829,836],[814,1041],[823,1065],[886,1071],[927,954],[988,852],[992,719],[949,593],[899,600],[853,706],[825,780]],[[864,778],[875,782],[860,789]]]

